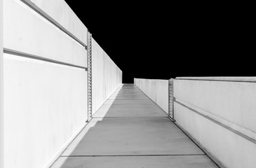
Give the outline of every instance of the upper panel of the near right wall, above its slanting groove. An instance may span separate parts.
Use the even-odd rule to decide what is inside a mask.
[[[255,83],[210,80],[174,82],[174,97],[253,139],[256,139],[255,91]]]

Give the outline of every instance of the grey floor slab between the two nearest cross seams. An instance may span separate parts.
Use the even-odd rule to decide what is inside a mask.
[[[72,147],[63,155],[203,154],[168,118],[105,118]]]

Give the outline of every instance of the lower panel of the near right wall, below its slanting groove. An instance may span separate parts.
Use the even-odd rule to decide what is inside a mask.
[[[256,145],[247,139],[177,103],[175,120],[224,166],[255,167]]]

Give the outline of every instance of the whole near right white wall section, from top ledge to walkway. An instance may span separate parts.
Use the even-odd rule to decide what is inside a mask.
[[[255,92],[256,78],[177,78],[175,120],[226,167],[255,167]]]

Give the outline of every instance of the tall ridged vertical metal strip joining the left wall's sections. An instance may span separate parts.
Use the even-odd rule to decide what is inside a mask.
[[[93,118],[93,92],[92,92],[92,34],[87,34],[87,87],[88,87],[88,120]]]

